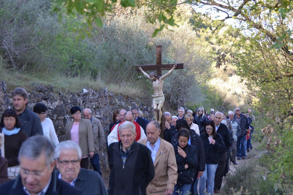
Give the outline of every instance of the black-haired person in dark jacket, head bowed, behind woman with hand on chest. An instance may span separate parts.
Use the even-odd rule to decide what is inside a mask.
[[[193,183],[191,185],[191,194],[197,194],[198,176],[201,176],[205,170],[205,150],[202,145],[202,140],[200,136],[195,133],[195,131],[190,130],[190,126],[185,119],[178,119],[176,121],[176,129],[178,130],[178,132],[175,133],[173,138],[171,139],[171,144],[178,143],[178,133],[181,129],[188,129],[190,133],[190,139],[188,140],[188,144],[196,147],[196,157],[198,166],[194,169]]]

